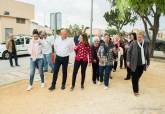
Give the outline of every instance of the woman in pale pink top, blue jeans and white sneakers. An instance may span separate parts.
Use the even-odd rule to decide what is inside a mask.
[[[30,54],[30,79],[29,79],[29,86],[27,91],[32,89],[33,80],[35,69],[38,67],[39,74],[41,77],[41,87],[43,88],[44,85],[44,73],[43,73],[43,54],[42,54],[42,44],[41,40],[39,39],[39,33],[37,29],[33,30],[33,37],[29,45],[29,54]]]

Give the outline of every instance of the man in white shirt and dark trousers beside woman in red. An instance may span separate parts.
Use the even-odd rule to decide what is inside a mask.
[[[56,81],[58,78],[58,72],[61,65],[62,65],[62,73],[63,73],[61,89],[64,90],[65,83],[67,80],[69,55],[74,50],[74,42],[71,39],[67,38],[67,31],[65,29],[61,30],[61,36],[59,38],[56,38],[54,43],[54,49],[56,52],[56,59],[54,64],[52,85],[49,88],[49,90],[52,91],[55,89]]]

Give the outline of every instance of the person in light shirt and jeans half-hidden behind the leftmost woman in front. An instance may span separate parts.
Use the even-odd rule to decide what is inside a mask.
[[[42,32],[41,36],[43,37],[42,53],[44,56],[44,72],[48,72],[48,64],[51,67],[51,72],[53,72],[53,64],[51,60],[53,42],[50,37],[47,37],[46,32]]]

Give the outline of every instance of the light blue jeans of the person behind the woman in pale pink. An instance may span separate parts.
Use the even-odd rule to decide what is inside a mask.
[[[48,71],[48,64],[51,67],[51,70],[53,71],[51,53],[50,54],[44,54],[44,71]]]

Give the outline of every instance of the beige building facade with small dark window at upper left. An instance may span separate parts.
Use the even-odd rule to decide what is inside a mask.
[[[9,33],[31,34],[34,6],[15,0],[0,0],[0,42],[6,42]]]

